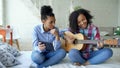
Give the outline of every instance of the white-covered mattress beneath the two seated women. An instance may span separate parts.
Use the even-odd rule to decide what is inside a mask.
[[[120,68],[120,49],[112,48],[113,57],[102,64],[98,65],[87,65],[87,66],[74,66],[68,59],[68,56],[59,63],[53,66],[49,66],[47,68]],[[9,68],[35,68],[36,64],[34,64],[31,60],[31,51],[21,51],[22,55],[17,57],[17,59],[21,62],[20,65],[16,65]]]

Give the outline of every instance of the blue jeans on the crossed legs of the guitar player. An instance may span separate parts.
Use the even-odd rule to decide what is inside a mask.
[[[83,58],[82,53],[77,49],[72,49],[69,51],[70,61],[75,63],[79,62],[81,64],[88,61],[90,64],[100,64],[105,62],[107,59],[112,57],[113,51],[110,48],[103,48],[97,51],[90,52],[88,59]]]

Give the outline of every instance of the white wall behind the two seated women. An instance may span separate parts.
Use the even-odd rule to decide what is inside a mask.
[[[74,5],[91,11],[93,23],[97,26],[117,26],[119,0],[74,0]],[[52,7],[56,16],[56,25],[66,28],[70,14],[70,0],[53,0]],[[120,7],[120,5],[119,5]],[[120,9],[119,9],[120,10]],[[20,34],[20,46],[32,46],[32,29],[40,19],[34,16],[22,0],[6,0],[6,23],[15,26]],[[119,20],[120,24],[120,20]]]

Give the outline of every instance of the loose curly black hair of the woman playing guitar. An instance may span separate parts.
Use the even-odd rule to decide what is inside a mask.
[[[78,24],[77,24],[77,18],[80,14],[83,14],[85,15],[88,23],[87,24],[91,24],[92,23],[92,18],[93,16],[90,14],[90,11],[86,10],[86,9],[78,9],[76,11],[73,11],[70,16],[69,16],[69,28],[70,28],[70,31],[73,32],[73,33],[78,33],[79,31],[79,27],[78,27]]]

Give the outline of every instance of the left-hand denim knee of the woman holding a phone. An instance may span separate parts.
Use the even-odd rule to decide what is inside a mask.
[[[41,64],[45,60],[45,58],[37,51],[32,52],[31,58],[36,64]]]

